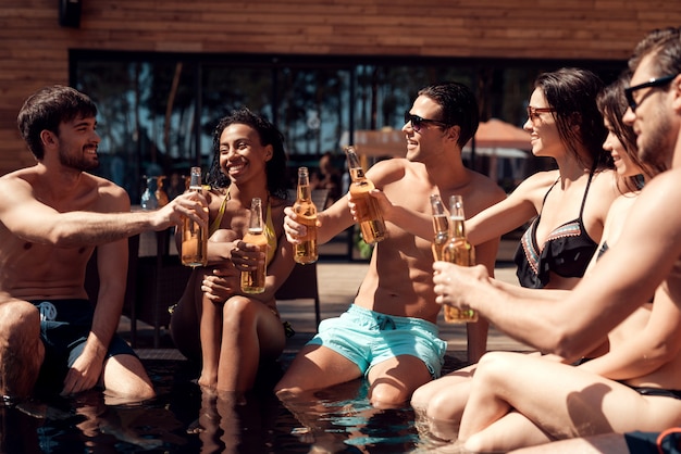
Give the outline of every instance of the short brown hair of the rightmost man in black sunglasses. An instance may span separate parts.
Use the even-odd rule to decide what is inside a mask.
[[[655,54],[651,62],[657,77],[681,73],[681,28],[657,28],[647,34],[634,48],[629,59],[629,70],[633,74],[641,61]]]

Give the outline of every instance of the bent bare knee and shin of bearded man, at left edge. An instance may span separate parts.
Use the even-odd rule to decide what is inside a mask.
[[[28,396],[44,358],[38,310],[20,300],[0,303],[0,393]]]

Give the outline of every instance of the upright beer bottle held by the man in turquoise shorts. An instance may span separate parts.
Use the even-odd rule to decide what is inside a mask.
[[[318,258],[317,206],[312,202],[310,175],[307,167],[298,168],[298,190],[293,210],[298,216],[298,222],[304,224],[307,229],[306,236],[300,238],[298,244],[294,245],[294,260],[304,265],[314,263]]]

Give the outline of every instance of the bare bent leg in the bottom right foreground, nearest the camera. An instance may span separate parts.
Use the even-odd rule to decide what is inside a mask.
[[[517,413],[507,418],[510,408]],[[459,438],[467,441],[467,449],[508,451],[548,440],[659,431],[679,425],[680,414],[681,402],[676,399],[641,395],[580,367],[495,352],[480,362]],[[535,427],[524,421],[518,426],[520,416]]]

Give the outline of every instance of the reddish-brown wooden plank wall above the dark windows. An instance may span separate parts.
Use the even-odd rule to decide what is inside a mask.
[[[681,24],[680,1],[82,0],[61,27],[54,0],[0,4],[0,174],[33,163],[23,100],[67,84],[69,50],[409,58],[624,60],[648,30]]]

